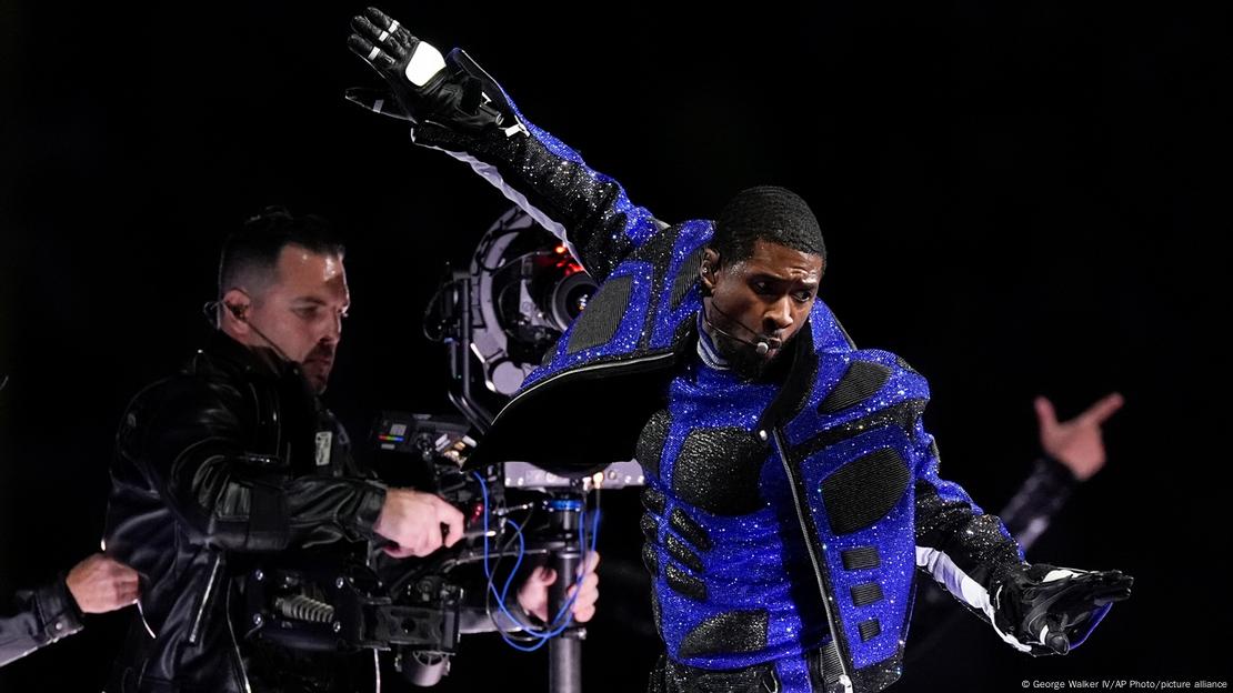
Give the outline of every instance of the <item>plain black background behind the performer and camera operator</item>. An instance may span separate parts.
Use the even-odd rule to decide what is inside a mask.
[[[1208,281],[1227,274],[1211,247],[1228,228],[1211,144],[1224,17],[810,5],[386,10],[467,47],[660,218],[713,216],[756,184],[800,192],[826,232],[822,298],[858,344],[930,377],[943,472],[986,507],[1030,467],[1033,396],[1065,417],[1124,393],[1108,467],[1030,557],[1126,570],[1133,599],[1064,658],[1017,655],[969,619],[898,689],[1228,681],[1213,334],[1228,308]],[[353,432],[380,408],[449,411],[420,314],[507,203],[342,99],[376,83],[344,46],[360,9],[0,5],[0,594],[96,550],[120,412],[202,342],[219,242],[265,205],[348,238],[355,308],[327,397]],[[637,689],[658,647],[640,620],[634,496],[604,498],[588,691]],[[126,618],[89,618],[0,671],[0,691],[96,691]],[[486,636],[454,668],[444,689],[544,689],[543,654]]]

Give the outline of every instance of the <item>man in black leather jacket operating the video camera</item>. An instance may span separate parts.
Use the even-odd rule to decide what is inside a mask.
[[[223,247],[218,330],[125,413],[107,545],[141,573],[142,598],[109,691],[369,689],[371,656],[247,638],[253,624],[236,618],[245,566],[363,557],[369,541],[425,556],[462,536],[456,508],[361,469],[318,398],[350,306],[343,256],[318,217],[249,219]],[[519,605],[541,613],[555,577],[533,573]],[[596,582],[582,583],[578,620],[594,610]]]

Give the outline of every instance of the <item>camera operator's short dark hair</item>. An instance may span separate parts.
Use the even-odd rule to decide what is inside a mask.
[[[274,281],[279,254],[298,245],[318,255],[345,253],[329,222],[316,215],[295,216],[286,207],[266,207],[223,242],[218,258],[218,297],[237,286],[260,292]]]

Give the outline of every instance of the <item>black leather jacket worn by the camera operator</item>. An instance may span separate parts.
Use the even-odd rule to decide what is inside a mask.
[[[298,369],[270,363],[217,332],[125,413],[106,547],[142,598],[109,691],[248,691],[240,565],[372,535],[385,488]]]

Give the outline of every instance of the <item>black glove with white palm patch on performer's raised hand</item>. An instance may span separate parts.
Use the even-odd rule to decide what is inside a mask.
[[[455,132],[502,128],[512,134],[523,129],[504,91],[465,52],[455,48],[443,58],[376,7],[351,18],[351,30],[346,44],[372,65],[390,91],[348,89],[349,101],[414,125],[433,122]]]

